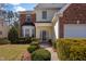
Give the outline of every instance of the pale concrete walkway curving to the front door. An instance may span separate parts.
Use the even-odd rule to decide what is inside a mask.
[[[53,51],[52,47],[49,44],[40,44],[41,48],[45,48],[46,50],[50,51],[51,53],[51,61],[59,61],[57,52]]]

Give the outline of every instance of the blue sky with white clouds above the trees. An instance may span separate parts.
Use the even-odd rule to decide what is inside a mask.
[[[14,11],[14,12],[27,11],[27,10],[32,11],[36,5],[37,3],[7,3],[4,5],[4,9],[7,11]]]

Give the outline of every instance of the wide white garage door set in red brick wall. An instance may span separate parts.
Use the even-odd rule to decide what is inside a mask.
[[[64,38],[84,38],[86,37],[86,24],[66,24],[64,25]]]

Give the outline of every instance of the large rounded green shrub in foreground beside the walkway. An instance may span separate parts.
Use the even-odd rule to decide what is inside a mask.
[[[48,50],[38,49],[32,53],[33,61],[50,61],[51,54]]]

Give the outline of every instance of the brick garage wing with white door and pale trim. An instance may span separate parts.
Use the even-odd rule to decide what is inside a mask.
[[[86,4],[64,5],[52,18],[56,38],[86,38]]]

